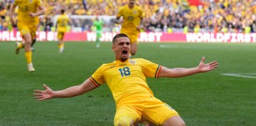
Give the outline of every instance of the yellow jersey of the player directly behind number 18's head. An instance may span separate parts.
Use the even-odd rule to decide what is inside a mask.
[[[126,5],[119,9],[117,17],[122,17],[123,19],[122,28],[130,31],[137,31],[136,26],[140,25],[143,12],[139,6],[134,6],[133,9],[130,9],[128,5]]]

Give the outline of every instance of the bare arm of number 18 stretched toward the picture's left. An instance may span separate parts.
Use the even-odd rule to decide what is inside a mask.
[[[52,91],[50,87],[47,87],[47,85],[43,84],[44,91],[35,90],[34,91],[34,98],[36,98],[39,101],[51,99],[51,98],[70,98],[77,95],[82,95],[85,92],[91,91],[96,88],[96,85],[92,83],[91,80],[85,80],[84,83],[81,83],[81,85],[68,87],[62,91]]]

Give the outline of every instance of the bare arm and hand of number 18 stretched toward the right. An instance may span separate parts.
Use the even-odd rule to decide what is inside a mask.
[[[202,57],[199,65],[195,68],[184,69],[184,68],[175,68],[168,69],[166,67],[162,67],[159,72],[159,77],[183,77],[190,76],[200,72],[209,72],[219,65],[217,61],[212,61],[209,63],[205,63],[205,57]]]

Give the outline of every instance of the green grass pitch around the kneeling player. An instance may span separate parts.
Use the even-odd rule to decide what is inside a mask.
[[[111,43],[67,42],[63,54],[55,42],[37,42],[28,73],[24,50],[0,42],[0,125],[111,126],[115,102],[107,85],[74,98],[38,102],[33,90],[46,83],[62,90],[86,80],[115,59]],[[168,68],[195,67],[217,60],[213,72],[183,78],[148,79],[156,98],[178,111],[188,126],[256,125],[255,43],[139,43],[137,55]],[[223,74],[230,76],[224,76]]]

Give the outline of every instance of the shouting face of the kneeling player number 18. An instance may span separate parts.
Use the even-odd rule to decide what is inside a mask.
[[[115,60],[126,61],[130,56],[130,39],[127,37],[120,37],[112,46],[115,52]]]

